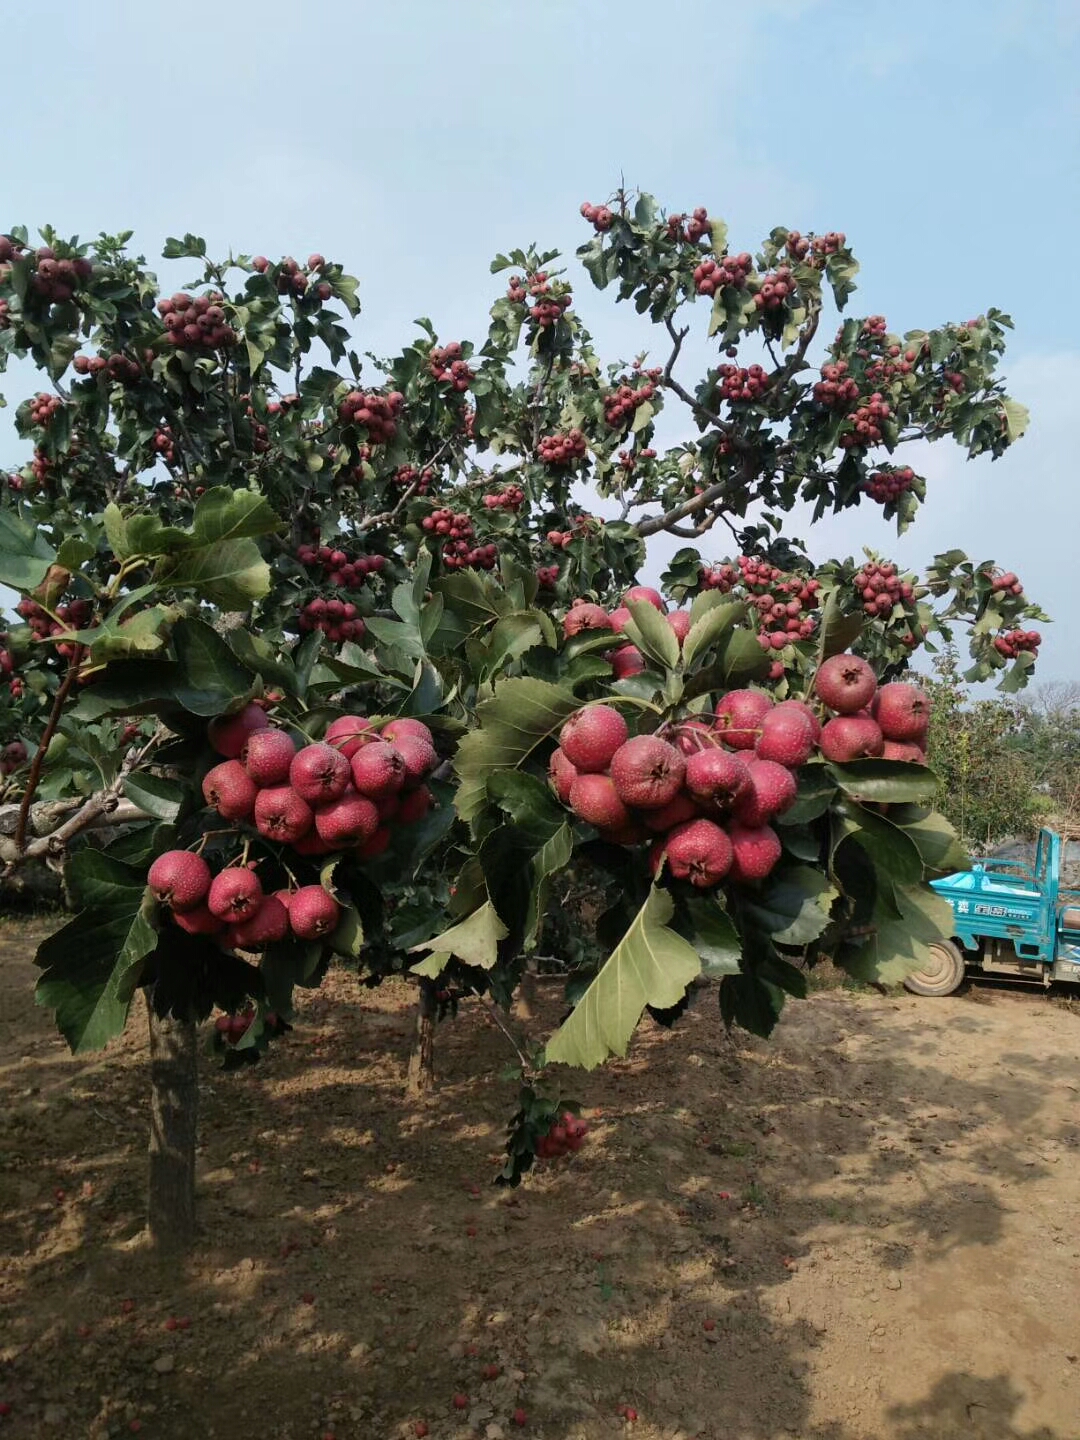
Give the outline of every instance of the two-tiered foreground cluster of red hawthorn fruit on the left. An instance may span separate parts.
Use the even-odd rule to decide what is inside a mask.
[[[206,804],[298,855],[353,850],[370,860],[390,844],[392,824],[418,821],[432,805],[425,780],[438,760],[419,720],[379,729],[363,716],[343,716],[324,740],[297,749],[261,706],[249,704],[213,720],[207,737],[225,759],[203,779]],[[217,936],[226,949],[262,950],[289,933],[317,940],[341,914],[323,886],[265,894],[251,864],[215,876],[190,850],[158,855],[147,883],[181,930]]]

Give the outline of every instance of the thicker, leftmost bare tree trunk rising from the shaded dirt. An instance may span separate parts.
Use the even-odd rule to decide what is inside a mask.
[[[199,1053],[193,1020],[150,1017],[150,1238],[163,1254],[194,1244]]]

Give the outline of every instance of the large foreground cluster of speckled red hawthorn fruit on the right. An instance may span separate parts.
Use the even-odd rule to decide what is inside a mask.
[[[815,752],[847,763],[880,756],[923,762],[930,704],[917,685],[878,688],[857,655],[834,655],[815,677],[825,714],[802,700],[733,690],[713,716],[631,736],[609,704],[576,711],[559,733],[549,776],[559,799],[619,845],[649,844],[654,874],[711,888],[763,880],[780,858],[772,827],[796,799],[795,772]]]

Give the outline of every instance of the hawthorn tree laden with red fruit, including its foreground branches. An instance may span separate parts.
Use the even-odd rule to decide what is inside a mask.
[[[625,364],[536,248],[492,264],[485,334],[423,320],[380,359],[323,255],[216,262],[186,235],[167,295],[130,233],[0,236],[0,357],[40,376],[0,508],[0,860],[65,864],[78,913],[37,994],[72,1048],[147,998],[163,1246],[194,1233],[197,1022],[217,1009],[216,1050],[255,1058],[334,956],[418,976],[428,1021],[492,1007],[521,1064],[514,1182],[582,1140],[547,1067],[624,1053],[701,975],[768,1032],[801,962],[899,978],[948,935],[926,880],[962,855],[896,677],[966,626],[969,674],[1018,688],[1040,612],[960,552],[924,577],[815,569],[783,517],[903,528],[924,481],[901,446],[1012,444],[1008,317],[825,340],[844,235],[737,252],[704,209],[622,192],[582,215],[586,274],[642,317]],[[732,553],[703,557],[717,526]],[[674,611],[638,583],[661,531],[691,541]],[[553,883],[595,936],[530,1053],[504,1012]]]

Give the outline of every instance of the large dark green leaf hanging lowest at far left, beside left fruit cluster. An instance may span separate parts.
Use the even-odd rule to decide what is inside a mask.
[[[82,913],[39,946],[36,998],[78,1053],[99,1050],[124,1030],[157,930],[144,871],[84,850],[66,877]]]

